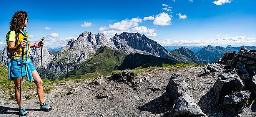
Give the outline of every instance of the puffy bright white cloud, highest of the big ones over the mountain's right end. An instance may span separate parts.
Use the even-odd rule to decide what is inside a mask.
[[[160,25],[160,26],[168,26],[171,25],[171,15],[168,15],[165,12],[162,12],[158,15],[156,15],[155,20],[153,21],[154,25]]]

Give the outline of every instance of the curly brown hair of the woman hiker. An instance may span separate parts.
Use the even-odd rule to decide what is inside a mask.
[[[25,23],[25,19],[27,17],[28,17],[28,14],[25,11],[16,12],[12,16],[12,20],[10,22],[10,30],[19,31],[20,29],[22,29]]]

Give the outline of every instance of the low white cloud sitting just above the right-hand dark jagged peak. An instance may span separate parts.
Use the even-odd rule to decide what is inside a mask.
[[[146,26],[136,26],[134,28],[131,29],[132,33],[141,33],[141,34],[145,34],[146,36],[156,36],[157,34],[155,33],[156,29],[150,29],[147,28]]]

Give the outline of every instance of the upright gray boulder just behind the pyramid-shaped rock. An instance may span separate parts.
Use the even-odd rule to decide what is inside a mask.
[[[187,90],[188,84],[183,79],[182,75],[178,73],[173,73],[165,89],[165,100],[174,102]]]

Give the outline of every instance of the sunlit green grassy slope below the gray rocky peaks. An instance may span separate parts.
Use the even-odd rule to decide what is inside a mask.
[[[86,77],[95,77],[97,76],[96,74],[110,75],[125,57],[126,54],[121,51],[113,50],[106,46],[101,47],[92,58],[79,64],[74,70],[65,74],[65,77],[75,76],[75,79],[84,79]]]

